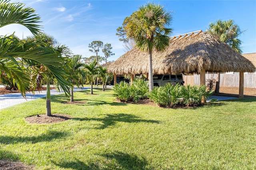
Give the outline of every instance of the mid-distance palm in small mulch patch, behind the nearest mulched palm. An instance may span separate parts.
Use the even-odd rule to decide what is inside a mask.
[[[68,65],[72,71],[72,77],[70,79],[71,87],[70,87],[70,101],[74,101],[74,85],[77,87],[80,86],[79,78],[82,77],[84,63],[80,60],[82,59],[82,55],[73,55],[72,57],[68,58]]]

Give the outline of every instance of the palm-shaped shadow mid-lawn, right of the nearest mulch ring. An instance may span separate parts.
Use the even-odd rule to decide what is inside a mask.
[[[130,114],[116,114],[116,115],[110,115],[106,114],[104,118],[72,118],[72,120],[77,121],[100,121],[103,123],[103,125],[100,125],[100,129],[107,128],[109,126],[115,125],[116,122],[125,122],[125,123],[160,123],[159,121],[154,120],[145,120],[145,119],[139,119],[139,117],[130,115]]]

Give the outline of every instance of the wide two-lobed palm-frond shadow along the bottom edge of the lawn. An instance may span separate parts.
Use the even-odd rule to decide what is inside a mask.
[[[60,168],[70,168],[74,170],[148,170],[146,168],[148,162],[145,158],[139,158],[136,155],[127,154],[124,152],[112,152],[107,154],[102,154],[109,161],[106,161],[102,165],[101,162],[98,164],[96,162],[82,162],[81,160],[76,159],[75,161],[61,162],[56,163],[52,161],[53,164],[59,166]],[[104,161],[105,162],[105,161]]]

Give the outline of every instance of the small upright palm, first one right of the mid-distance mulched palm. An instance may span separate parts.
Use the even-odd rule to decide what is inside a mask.
[[[86,75],[88,76],[88,78],[90,79],[91,82],[91,95],[93,94],[92,91],[92,84],[94,79],[98,76],[99,74],[99,65],[97,64],[97,61],[94,60],[92,63],[90,63],[89,65],[84,65],[84,68],[86,70]]]

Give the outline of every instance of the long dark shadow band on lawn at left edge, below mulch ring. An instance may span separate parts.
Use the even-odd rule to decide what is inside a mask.
[[[53,139],[63,138],[67,136],[66,132],[58,132],[58,131],[48,131],[46,134],[40,134],[38,136],[0,136],[1,144],[14,144],[14,143],[22,143],[22,142],[44,142],[51,141]]]

